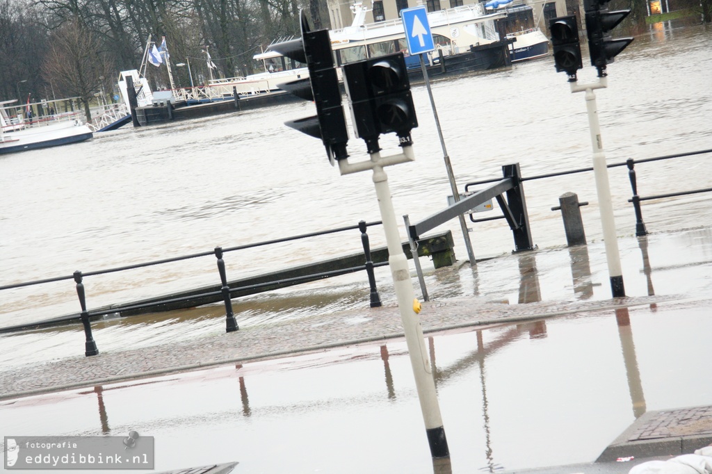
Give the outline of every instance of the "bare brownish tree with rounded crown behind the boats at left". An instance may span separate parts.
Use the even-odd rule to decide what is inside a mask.
[[[109,69],[100,57],[92,33],[77,22],[67,22],[53,35],[42,65],[43,77],[54,80],[59,88],[84,105],[91,120],[89,102],[108,76]]]

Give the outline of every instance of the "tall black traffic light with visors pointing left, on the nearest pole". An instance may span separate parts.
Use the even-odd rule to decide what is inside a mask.
[[[346,159],[349,136],[341,106],[341,89],[334,67],[329,31],[310,31],[303,10],[300,12],[300,21],[300,39],[277,43],[270,46],[270,49],[287,58],[307,64],[309,78],[293,80],[278,87],[305,100],[313,100],[316,105],[316,115],[290,120],[285,122],[285,125],[320,138],[330,160]]]

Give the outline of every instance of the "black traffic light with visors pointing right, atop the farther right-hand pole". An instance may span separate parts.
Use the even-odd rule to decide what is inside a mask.
[[[598,75],[606,75],[606,65],[632,43],[633,38],[612,38],[610,31],[628,16],[630,10],[608,11],[608,0],[585,0],[586,32],[591,65]]]

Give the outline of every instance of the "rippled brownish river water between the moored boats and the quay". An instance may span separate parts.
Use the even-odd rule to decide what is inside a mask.
[[[712,34],[700,26],[656,31],[637,37],[609,65],[609,88],[596,93],[609,162],[710,148],[711,46]],[[580,81],[594,75],[585,68]],[[591,165],[585,100],[570,93],[551,58],[434,83],[432,90],[461,189],[468,181],[500,176],[503,164],[520,163],[525,176]],[[397,215],[417,221],[443,208],[450,189],[425,88],[414,88],[414,98],[417,162],[387,172]],[[367,173],[340,177],[318,140],[283,125],[312,112],[313,105],[303,102],[125,127],[81,144],[0,157],[0,284],[379,220]],[[382,139],[382,146],[385,153],[397,148],[393,137]],[[352,159],[366,157],[359,140],[352,139],[349,150]],[[708,159],[639,165],[640,194],[709,186]],[[609,173],[618,232],[632,235],[627,169]],[[587,237],[600,239],[592,174],[527,181],[525,191],[540,248],[565,243],[560,216],[550,207],[566,191],[591,202],[582,208]],[[646,204],[646,223],[651,231],[698,226],[708,216],[708,199],[698,194]],[[470,226],[478,258],[513,248],[503,221]],[[466,258],[457,221],[444,227],[454,233],[459,258]],[[384,244],[380,228],[370,236],[373,246]],[[226,264],[229,278],[238,278],[359,249],[354,231],[230,253]],[[362,280],[350,276],[321,286]],[[91,308],[217,281],[214,257],[208,256],[85,278],[85,286]],[[71,280],[4,290],[0,300],[0,326],[79,309]]]

